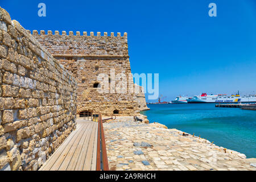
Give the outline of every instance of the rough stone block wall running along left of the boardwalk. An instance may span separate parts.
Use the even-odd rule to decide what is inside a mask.
[[[76,129],[75,78],[0,7],[0,171],[36,170]]]

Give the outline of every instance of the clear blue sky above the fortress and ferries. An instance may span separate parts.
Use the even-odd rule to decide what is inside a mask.
[[[38,16],[38,3],[47,6]],[[217,5],[209,17],[208,5]],[[159,73],[159,93],[256,93],[256,1],[4,1],[28,30],[128,33],[131,71]]]

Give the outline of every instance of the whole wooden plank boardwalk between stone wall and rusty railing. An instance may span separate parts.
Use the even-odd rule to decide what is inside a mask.
[[[77,129],[39,171],[95,171],[98,123],[77,119]]]

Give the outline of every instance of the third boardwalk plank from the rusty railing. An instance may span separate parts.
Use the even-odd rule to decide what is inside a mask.
[[[82,171],[82,168],[84,167],[84,162],[85,162],[85,158],[88,150],[88,144],[89,144],[90,136],[92,135],[92,129],[93,129],[93,125],[90,127],[89,133],[86,136],[84,144],[82,145],[82,150],[80,152],[79,159],[75,167],[75,171]]]

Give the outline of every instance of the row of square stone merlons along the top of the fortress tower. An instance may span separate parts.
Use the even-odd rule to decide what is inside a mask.
[[[28,33],[31,34],[30,30],[27,30]],[[44,30],[40,30],[40,34],[37,30],[33,30],[32,31],[32,35],[57,35],[57,36],[94,36],[94,32],[90,32],[90,34],[87,34],[87,32],[82,32],[82,34],[80,33],[80,31],[76,31],[76,35],[74,34],[73,31],[69,31],[68,34],[66,31],[62,31],[61,34],[59,31],[55,31],[54,34],[51,30],[46,31]],[[95,34],[96,36],[101,36],[101,32],[97,32],[97,34]],[[103,36],[108,36],[108,32],[104,32]],[[114,32],[110,32],[110,36],[114,36]],[[121,36],[121,32],[117,32],[116,36]],[[123,37],[127,38],[127,32],[123,33]]]

